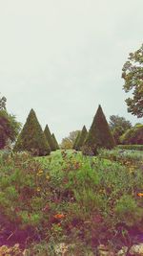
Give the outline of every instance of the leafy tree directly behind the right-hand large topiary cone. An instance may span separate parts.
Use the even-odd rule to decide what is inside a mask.
[[[110,117],[110,128],[112,130],[112,135],[114,137],[115,143],[120,143],[120,136],[129,128],[132,128],[130,121],[126,120],[124,117],[118,115],[112,115]]]

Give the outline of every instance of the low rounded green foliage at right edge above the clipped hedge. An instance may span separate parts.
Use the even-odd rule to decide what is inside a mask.
[[[122,144],[143,144],[143,125],[136,125],[131,129],[128,129],[121,137],[120,142]]]

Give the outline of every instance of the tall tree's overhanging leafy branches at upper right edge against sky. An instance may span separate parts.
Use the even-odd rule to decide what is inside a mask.
[[[125,92],[133,91],[133,98],[128,98],[126,103],[128,111],[140,118],[143,117],[143,44],[128,59],[122,69],[123,88]]]

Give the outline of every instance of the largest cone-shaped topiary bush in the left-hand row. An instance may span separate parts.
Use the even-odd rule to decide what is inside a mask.
[[[31,151],[33,155],[48,155],[51,152],[33,109],[17,139],[14,151]]]

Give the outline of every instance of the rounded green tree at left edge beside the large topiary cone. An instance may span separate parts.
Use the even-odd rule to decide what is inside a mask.
[[[14,115],[0,110],[0,149],[4,149],[8,140],[14,142],[21,128]]]

